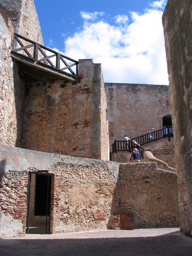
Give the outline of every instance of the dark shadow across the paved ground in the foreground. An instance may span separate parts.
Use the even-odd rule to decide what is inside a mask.
[[[180,256],[192,254],[191,239],[189,237],[181,239],[180,231],[148,237],[126,237],[124,233],[114,232],[116,233],[113,236],[118,237],[96,238],[97,233],[84,232],[76,235],[80,236],[78,239],[73,238],[73,236],[70,239],[65,239],[65,235],[63,235],[62,239],[6,239],[2,241],[4,245],[0,246],[1,256],[26,255],[26,249],[28,256],[32,256],[36,254],[39,244],[41,244],[41,246],[38,246],[39,255]],[[84,236],[83,238],[81,238],[82,235]],[[91,235],[94,238],[89,238]]]

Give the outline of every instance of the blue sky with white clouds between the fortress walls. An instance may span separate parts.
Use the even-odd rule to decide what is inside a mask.
[[[161,17],[167,0],[34,0],[44,45],[101,63],[104,82],[168,84]]]

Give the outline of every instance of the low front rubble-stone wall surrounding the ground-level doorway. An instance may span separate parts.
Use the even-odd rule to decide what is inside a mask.
[[[51,233],[110,228],[110,216],[119,213],[131,214],[134,228],[179,225],[176,173],[157,169],[156,163],[118,164],[0,148],[1,221],[19,220],[22,234],[28,173],[40,171],[52,175]],[[1,236],[11,236],[13,225]]]

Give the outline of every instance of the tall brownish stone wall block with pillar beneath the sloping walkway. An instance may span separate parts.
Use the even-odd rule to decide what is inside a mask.
[[[100,64],[79,60],[81,82],[28,81],[21,147],[108,160],[106,100]]]

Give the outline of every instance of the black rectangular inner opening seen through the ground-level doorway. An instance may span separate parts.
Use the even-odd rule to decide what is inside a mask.
[[[36,175],[35,215],[50,215],[51,176]]]

